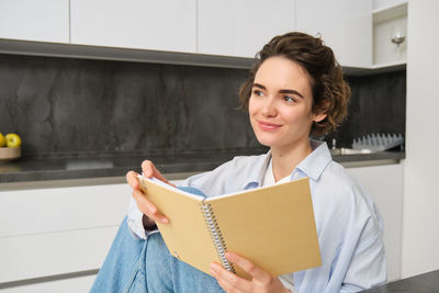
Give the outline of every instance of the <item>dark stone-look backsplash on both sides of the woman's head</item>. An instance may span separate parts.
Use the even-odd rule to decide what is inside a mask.
[[[236,110],[247,71],[0,55],[0,132],[20,134],[30,157],[260,149]],[[338,144],[405,133],[405,70],[348,81]]]

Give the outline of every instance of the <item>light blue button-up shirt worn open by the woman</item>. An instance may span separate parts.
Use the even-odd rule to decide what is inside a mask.
[[[309,154],[291,173],[291,179],[309,178],[322,266],[293,273],[299,292],[357,292],[386,281],[382,240],[383,222],[372,200],[333,161],[326,143],[311,140]],[[261,185],[270,153],[235,157],[216,169],[188,178],[209,196],[255,189]],[[132,205],[128,226],[133,234],[142,225]],[[140,213],[142,215],[142,213]],[[131,219],[131,221],[130,221]]]

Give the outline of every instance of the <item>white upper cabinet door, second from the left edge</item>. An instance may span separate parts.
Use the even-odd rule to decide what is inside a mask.
[[[196,50],[196,0],[70,0],[71,44]]]

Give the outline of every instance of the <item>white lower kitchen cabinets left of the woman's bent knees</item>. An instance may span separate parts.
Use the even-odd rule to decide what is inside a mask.
[[[87,292],[94,277],[20,282],[99,269],[130,198],[127,184],[0,192],[0,292]]]

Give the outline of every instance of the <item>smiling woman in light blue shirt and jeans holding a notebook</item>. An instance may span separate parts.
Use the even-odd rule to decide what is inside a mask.
[[[239,92],[256,137],[270,147],[269,154],[236,157],[182,184],[216,196],[308,177],[320,267],[277,278],[228,252],[227,259],[252,277],[244,280],[218,263],[211,264],[212,278],[178,261],[155,233],[155,223],[168,223],[168,218],[148,202],[131,171],[126,178],[135,204],[128,213],[130,232],[148,240],[137,249],[144,257],[133,257],[145,259],[140,267],[146,269],[133,270],[142,278],[124,284],[126,292],[137,290],[136,282],[143,286],[139,292],[356,292],[385,282],[382,221],[373,202],[331,160],[325,143],[309,139],[342,122],[349,94],[341,67],[319,38],[302,33],[275,36],[257,55]],[[144,161],[142,167],[146,177],[168,182],[153,162]]]

